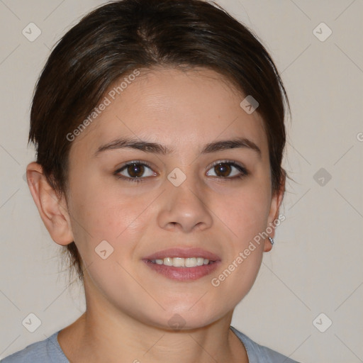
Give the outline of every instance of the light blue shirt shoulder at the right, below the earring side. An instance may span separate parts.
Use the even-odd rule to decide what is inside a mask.
[[[233,326],[230,328],[238,336],[243,345],[245,345],[250,363],[298,363],[279,352],[257,344],[257,342],[254,342],[247,335],[233,328]]]

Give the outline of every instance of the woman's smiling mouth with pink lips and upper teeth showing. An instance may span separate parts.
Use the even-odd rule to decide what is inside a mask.
[[[173,248],[147,256],[143,262],[158,274],[177,281],[194,281],[211,274],[220,257],[197,248]]]

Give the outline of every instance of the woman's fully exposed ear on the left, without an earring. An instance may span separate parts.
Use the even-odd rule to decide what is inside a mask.
[[[26,168],[26,179],[30,193],[38,207],[52,240],[58,245],[73,242],[73,233],[65,196],[59,196],[48,183],[43,168],[37,162],[30,162]]]

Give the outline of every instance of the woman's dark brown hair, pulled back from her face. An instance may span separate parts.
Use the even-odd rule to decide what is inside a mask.
[[[220,6],[202,0],[123,0],[82,18],[57,43],[33,96],[29,142],[60,195],[67,191],[67,134],[97,106],[108,88],[135,69],[205,67],[259,102],[269,143],[272,190],[284,186],[284,116],[289,101],[269,53],[251,30]],[[242,99],[241,99],[242,101]],[[71,266],[83,282],[74,242]]]

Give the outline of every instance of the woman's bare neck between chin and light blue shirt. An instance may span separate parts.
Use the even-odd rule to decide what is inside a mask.
[[[105,310],[87,311],[63,329],[58,341],[69,362],[248,362],[245,347],[230,330],[232,314],[203,328],[166,330]],[[82,349],[79,349],[82,347]]]

